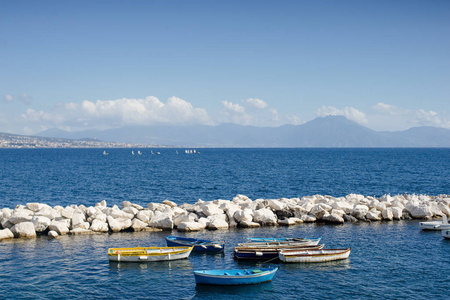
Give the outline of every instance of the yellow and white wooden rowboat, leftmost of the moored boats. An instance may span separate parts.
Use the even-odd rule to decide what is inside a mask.
[[[193,247],[137,247],[110,248],[109,261],[117,262],[151,262],[188,258]]]

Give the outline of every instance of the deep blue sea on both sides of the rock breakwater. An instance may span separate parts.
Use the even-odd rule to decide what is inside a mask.
[[[102,200],[146,207],[165,199],[193,204],[237,194],[252,200],[450,194],[450,149],[185,150],[0,149],[0,208],[29,202],[94,206]],[[421,231],[419,222],[4,240],[0,299],[449,299],[450,240]],[[165,246],[168,235],[223,240],[225,251],[170,262],[108,261],[110,247]],[[332,263],[234,260],[233,247],[248,237],[321,237],[326,248],[352,251],[349,259]],[[271,282],[257,285],[196,286],[193,275],[264,266],[279,269]]]

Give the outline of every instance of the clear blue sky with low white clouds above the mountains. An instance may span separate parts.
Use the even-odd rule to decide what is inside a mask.
[[[450,129],[450,1],[0,0],[0,132]]]

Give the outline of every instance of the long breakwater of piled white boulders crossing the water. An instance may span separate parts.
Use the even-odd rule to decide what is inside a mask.
[[[233,200],[198,200],[195,204],[164,200],[146,208],[129,201],[108,207],[51,207],[27,203],[0,210],[0,240],[46,235],[94,234],[119,231],[200,231],[231,227],[291,226],[303,222],[392,221],[450,216],[450,195],[383,195],[380,198],[350,194],[302,198],[256,199],[237,195]]]

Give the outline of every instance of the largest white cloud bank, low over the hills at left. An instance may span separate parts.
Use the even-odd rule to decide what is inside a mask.
[[[171,97],[163,103],[152,96],[145,99],[70,102],[58,105],[50,112],[28,109],[22,119],[49,128],[65,126],[73,130],[126,125],[212,124],[203,108],[195,108],[191,103],[177,97]]]

